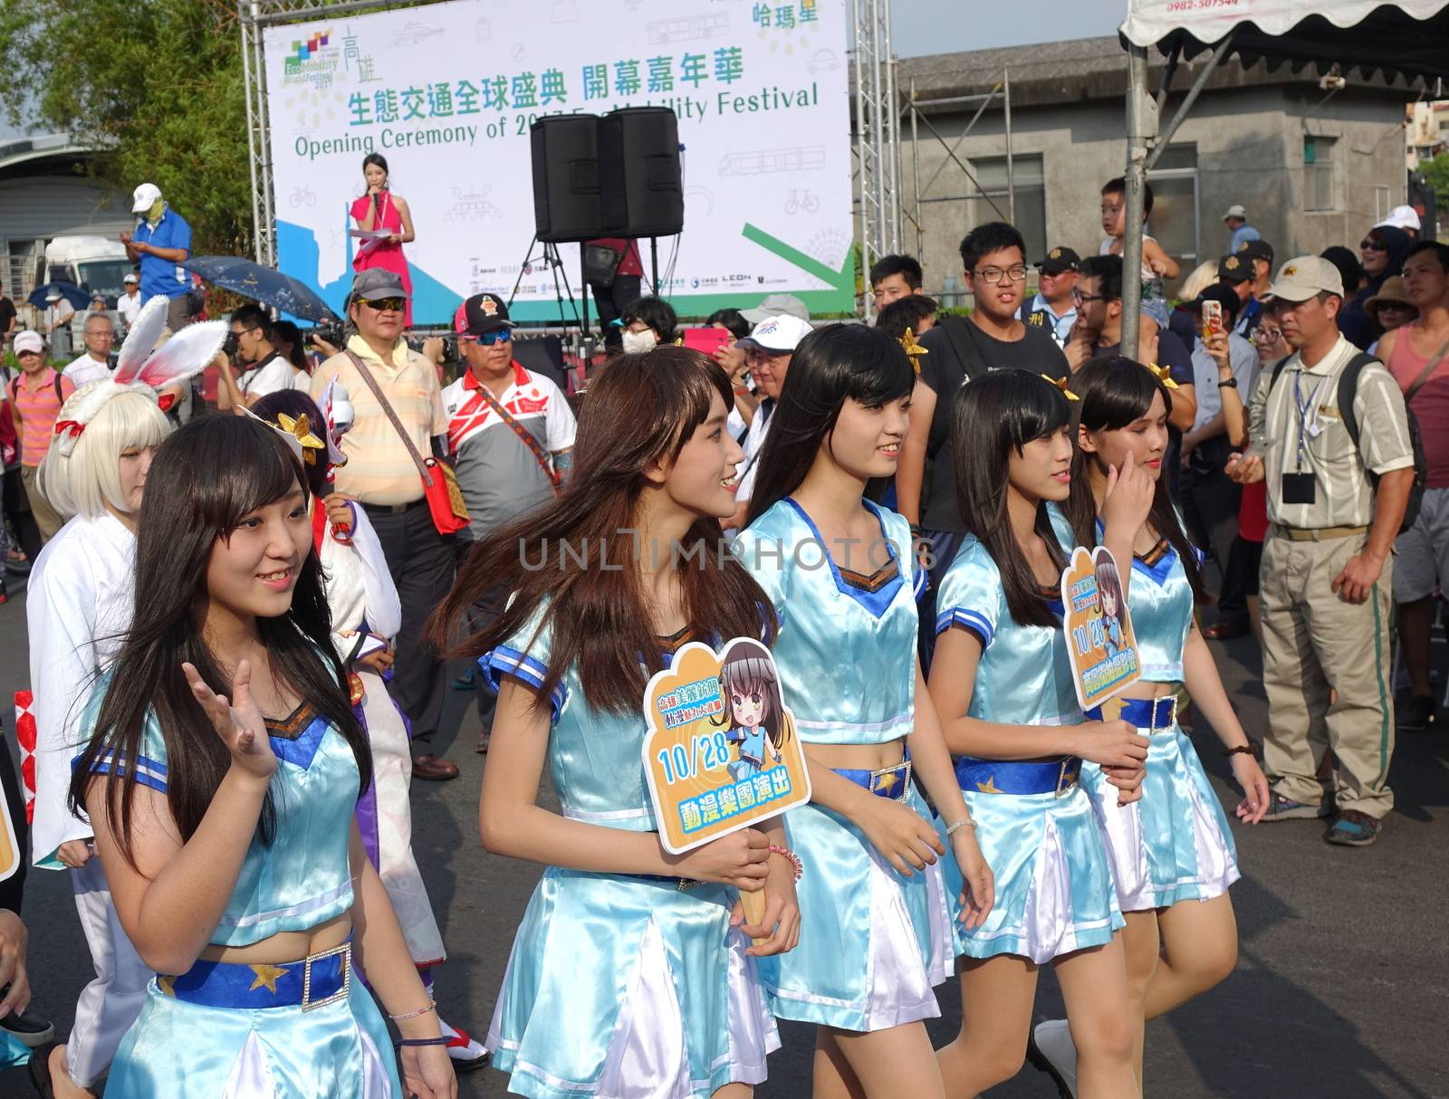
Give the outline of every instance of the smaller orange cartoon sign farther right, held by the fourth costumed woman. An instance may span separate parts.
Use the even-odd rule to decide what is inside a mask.
[[[1101,705],[1142,678],[1122,573],[1106,546],[1081,546],[1062,573],[1062,630],[1082,709]]]

